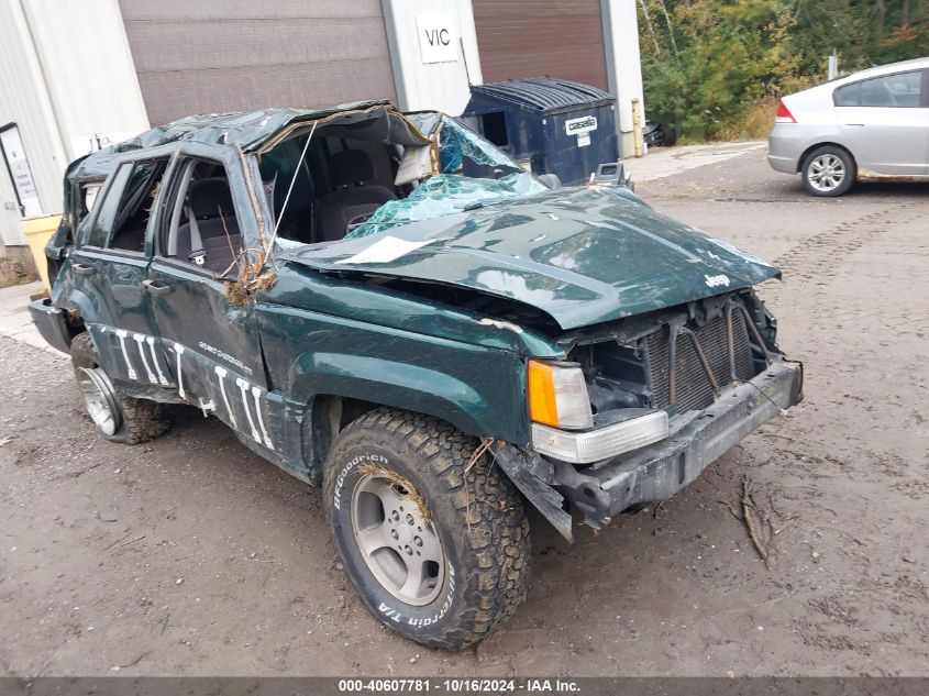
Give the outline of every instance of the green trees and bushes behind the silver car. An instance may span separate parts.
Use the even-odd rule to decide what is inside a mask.
[[[738,134],[761,104],[851,71],[929,55],[929,0],[637,0],[645,106],[688,140]]]

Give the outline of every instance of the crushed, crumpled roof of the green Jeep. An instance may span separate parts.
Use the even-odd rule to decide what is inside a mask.
[[[262,109],[185,117],[76,159],[68,167],[67,176],[75,179],[102,178],[112,172],[118,156],[126,152],[158,147],[175,142],[232,145],[243,152],[253,152],[265,148],[266,145],[273,146],[305,122],[328,120],[347,113],[369,113],[376,110],[383,110],[385,114],[396,114],[407,121],[386,100],[357,101],[328,109]]]

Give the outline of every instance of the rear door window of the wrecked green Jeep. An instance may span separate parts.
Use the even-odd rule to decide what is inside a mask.
[[[100,207],[85,244],[144,253],[145,229],[158,196],[167,157],[126,163],[120,166]],[[85,199],[87,200],[87,199]]]

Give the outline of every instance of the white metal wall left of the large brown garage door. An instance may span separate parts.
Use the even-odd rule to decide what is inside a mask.
[[[62,211],[62,174],[148,128],[117,0],[0,0],[0,241]]]

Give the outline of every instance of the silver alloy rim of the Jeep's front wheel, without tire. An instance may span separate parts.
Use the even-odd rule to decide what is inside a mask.
[[[361,477],[352,495],[352,530],[380,585],[421,607],[442,590],[445,554],[434,526],[425,522],[408,493],[384,476]]]

